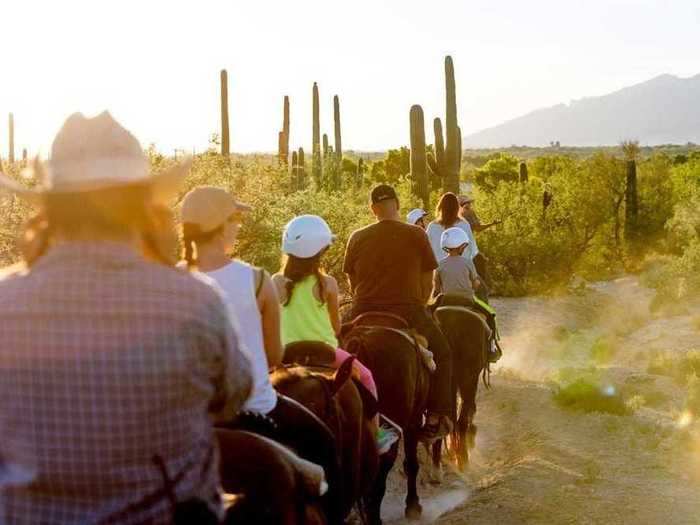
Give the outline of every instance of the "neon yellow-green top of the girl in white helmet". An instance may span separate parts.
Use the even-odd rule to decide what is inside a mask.
[[[314,296],[316,276],[309,275],[294,286],[292,300],[282,306],[282,344],[323,341],[338,347],[328,307]]]

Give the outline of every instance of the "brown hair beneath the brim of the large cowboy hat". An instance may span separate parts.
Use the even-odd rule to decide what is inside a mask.
[[[118,188],[79,193],[48,193],[43,210],[29,219],[20,236],[20,251],[27,266],[43,256],[53,237],[60,233],[79,238],[95,236],[127,237],[137,230],[148,250],[160,262],[170,265],[171,257],[156,242],[158,224],[151,202],[151,187],[131,184]]]

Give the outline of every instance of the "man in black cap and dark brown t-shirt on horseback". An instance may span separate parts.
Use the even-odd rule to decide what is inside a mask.
[[[385,311],[406,319],[428,340],[437,370],[433,374],[423,439],[447,435],[451,421],[451,353],[426,304],[437,261],[425,232],[399,215],[394,188],[380,184],[370,192],[376,221],[348,239],[343,272],[353,292],[351,315]]]

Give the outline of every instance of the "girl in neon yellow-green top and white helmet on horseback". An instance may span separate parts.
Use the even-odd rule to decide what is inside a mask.
[[[282,269],[272,281],[282,303],[282,343],[322,341],[336,349],[334,366],[339,367],[351,356],[338,348],[338,283],[321,268],[321,258],[334,239],[326,221],[317,215],[292,219],[282,236]],[[372,372],[357,359],[353,368],[360,383],[376,398]],[[378,429],[377,447],[382,454],[398,439],[398,434],[392,429]]]

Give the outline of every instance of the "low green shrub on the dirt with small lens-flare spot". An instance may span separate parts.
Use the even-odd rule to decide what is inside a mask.
[[[578,379],[554,393],[554,401],[561,407],[581,412],[604,412],[624,416],[630,413],[622,396],[611,387]]]

